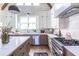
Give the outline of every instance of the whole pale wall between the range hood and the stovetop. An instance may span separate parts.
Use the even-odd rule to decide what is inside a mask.
[[[63,36],[65,36],[67,32],[70,32],[73,39],[79,40],[79,14],[75,14],[69,18],[59,19],[59,25]]]

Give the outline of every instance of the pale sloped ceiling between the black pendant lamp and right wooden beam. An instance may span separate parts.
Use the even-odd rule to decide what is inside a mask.
[[[52,5],[52,4],[51,4]],[[46,3],[41,3],[39,6],[26,6],[26,5],[18,5],[20,15],[25,15],[27,13],[37,14],[40,11],[48,11],[50,10],[50,6]]]

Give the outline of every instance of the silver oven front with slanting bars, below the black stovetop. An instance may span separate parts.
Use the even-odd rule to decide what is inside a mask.
[[[63,46],[57,42],[54,38],[52,40],[52,49],[54,56],[63,56]]]

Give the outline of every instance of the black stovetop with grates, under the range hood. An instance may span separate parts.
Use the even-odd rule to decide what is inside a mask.
[[[55,38],[57,41],[61,42],[64,46],[79,46],[78,40],[65,40],[65,38]]]

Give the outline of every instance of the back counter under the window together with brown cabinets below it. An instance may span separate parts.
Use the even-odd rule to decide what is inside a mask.
[[[10,36],[31,36],[32,45],[48,45],[47,33],[10,33]]]

